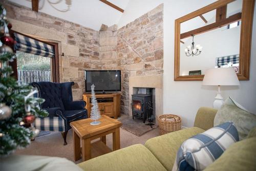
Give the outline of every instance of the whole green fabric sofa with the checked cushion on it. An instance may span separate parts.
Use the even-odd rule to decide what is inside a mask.
[[[181,143],[214,125],[217,110],[200,108],[194,127],[158,136],[78,164],[83,170],[172,170]],[[255,132],[255,130],[254,130]],[[232,144],[205,170],[255,170],[256,137]],[[251,150],[252,149],[252,150]]]

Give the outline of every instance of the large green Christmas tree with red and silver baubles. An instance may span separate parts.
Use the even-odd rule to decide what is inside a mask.
[[[13,70],[9,62],[16,57],[12,50],[15,40],[9,35],[11,27],[6,9],[0,5],[0,156],[27,147],[30,139],[39,133],[31,124],[36,117],[48,115],[39,107],[44,99],[34,98],[36,91],[31,86],[19,86],[11,76]]]

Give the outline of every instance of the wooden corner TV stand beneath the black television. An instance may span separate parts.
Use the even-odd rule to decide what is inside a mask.
[[[95,95],[99,105],[100,115],[114,117],[115,119],[120,116],[120,97],[121,94],[96,94]],[[83,100],[86,101],[86,109],[88,111],[88,118],[90,117],[92,103],[91,93],[84,93]]]

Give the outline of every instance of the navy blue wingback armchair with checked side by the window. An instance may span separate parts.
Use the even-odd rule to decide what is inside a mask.
[[[36,118],[34,126],[41,131],[60,131],[67,145],[67,134],[71,129],[70,122],[86,119],[85,101],[73,101],[72,89],[74,82],[54,83],[48,81],[32,82],[38,90],[37,97],[45,99],[41,109],[49,113],[48,117]]]

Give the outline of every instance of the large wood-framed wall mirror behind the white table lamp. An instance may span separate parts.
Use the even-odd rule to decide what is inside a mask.
[[[220,0],[175,20],[175,80],[233,67],[249,79],[254,0]]]

